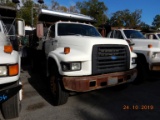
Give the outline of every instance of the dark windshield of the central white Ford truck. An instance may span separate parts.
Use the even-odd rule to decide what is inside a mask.
[[[100,33],[96,28],[76,23],[59,23],[58,24],[58,35],[83,35],[83,36],[96,36],[100,37]]]

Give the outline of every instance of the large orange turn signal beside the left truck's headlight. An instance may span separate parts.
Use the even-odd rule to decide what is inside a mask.
[[[9,66],[9,76],[18,75],[19,66],[18,64]]]

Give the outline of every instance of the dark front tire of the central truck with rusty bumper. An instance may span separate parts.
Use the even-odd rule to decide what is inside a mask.
[[[69,92],[64,89],[62,77],[59,75],[57,70],[57,67],[53,67],[52,65],[49,77],[50,89],[53,95],[53,103],[55,106],[65,104],[69,97]]]

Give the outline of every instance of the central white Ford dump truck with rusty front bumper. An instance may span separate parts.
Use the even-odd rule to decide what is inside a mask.
[[[66,103],[70,91],[87,92],[136,78],[137,55],[126,41],[103,38],[90,24],[93,18],[41,9],[38,19],[36,48],[44,52],[55,105]]]

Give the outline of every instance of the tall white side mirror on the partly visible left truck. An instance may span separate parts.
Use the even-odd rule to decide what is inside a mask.
[[[16,31],[16,34],[18,36],[25,36],[25,22],[23,19],[16,19],[16,28],[17,28],[17,31]]]

